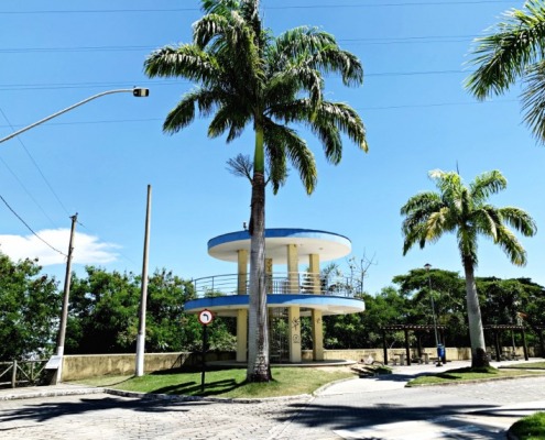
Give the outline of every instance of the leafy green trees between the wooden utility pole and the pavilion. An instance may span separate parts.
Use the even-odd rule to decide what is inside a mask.
[[[87,277],[73,277],[67,351],[69,353],[130,353],[135,350],[141,278],[132,273],[86,267]],[[149,277],[146,352],[200,350],[201,327],[184,304],[195,297],[193,283],[157,270]],[[211,350],[233,350],[232,322],[210,326]]]

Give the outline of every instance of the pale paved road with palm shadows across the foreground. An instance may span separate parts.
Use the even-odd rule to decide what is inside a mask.
[[[418,372],[404,369],[257,404],[0,395],[0,439],[504,439],[522,414],[545,409],[545,377],[404,388]]]

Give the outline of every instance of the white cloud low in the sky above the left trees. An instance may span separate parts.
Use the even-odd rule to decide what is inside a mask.
[[[1,235],[0,252],[11,260],[39,258],[41,266],[65,264],[68,253],[69,229],[44,229],[37,232],[45,242],[51,244],[56,252],[37,237],[30,235]],[[106,264],[117,261],[115,252],[120,246],[113,243],[100,242],[98,237],[76,232],[74,237],[73,263],[75,264]]]

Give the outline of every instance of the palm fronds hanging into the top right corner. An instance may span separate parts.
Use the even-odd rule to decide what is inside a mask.
[[[506,11],[504,18],[488,35],[475,40],[469,64],[477,70],[465,86],[484,100],[522,79],[524,122],[545,142],[545,2],[528,0],[523,9]]]

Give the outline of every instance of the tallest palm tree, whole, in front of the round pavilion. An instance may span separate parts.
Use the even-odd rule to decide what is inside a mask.
[[[190,124],[196,110],[211,117],[210,138],[227,133],[232,142],[247,125],[253,129],[248,380],[266,382],[265,163],[274,194],[285,183],[288,162],[312,194],[317,183],[314,155],[292,124],[307,127],[333,164],[341,158],[341,133],[367,151],[358,113],[324,99],[324,74],[340,74],[345,85],[356,86],[363,69],[333,35],[316,28],[274,37],[262,26],[259,0],[201,0],[201,6],[205,15],[194,24],[193,43],[153,52],[144,68],[150,77],[182,77],[198,85],[168,113],[165,132]]]

